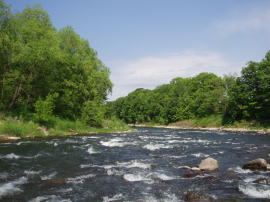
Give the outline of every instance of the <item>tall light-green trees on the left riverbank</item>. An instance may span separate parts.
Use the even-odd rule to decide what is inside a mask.
[[[109,70],[71,27],[39,6],[13,13],[0,0],[0,110],[48,125],[52,117],[101,125]]]

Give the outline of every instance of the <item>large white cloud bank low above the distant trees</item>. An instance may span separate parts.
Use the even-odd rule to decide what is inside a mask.
[[[241,65],[228,62],[218,53],[193,51],[112,62],[108,65],[114,83],[110,100],[126,96],[137,88],[153,89],[175,77],[190,77],[201,72],[217,75],[240,72]]]

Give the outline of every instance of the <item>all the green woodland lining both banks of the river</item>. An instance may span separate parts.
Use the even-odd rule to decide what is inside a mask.
[[[71,27],[57,30],[41,7],[13,13],[0,0],[0,111],[51,127],[56,119],[100,127],[104,118],[169,124],[221,117],[270,121],[270,52],[241,76],[201,73],[106,103],[109,69]]]

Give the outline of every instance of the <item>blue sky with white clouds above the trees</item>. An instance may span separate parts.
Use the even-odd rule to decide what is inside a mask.
[[[109,67],[109,100],[201,72],[240,75],[270,50],[269,0],[4,0],[39,4],[72,26]]]

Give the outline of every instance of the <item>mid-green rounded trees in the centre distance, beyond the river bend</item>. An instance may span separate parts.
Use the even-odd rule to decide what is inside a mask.
[[[225,91],[222,78],[211,73],[175,78],[154,90],[137,89],[127,97],[108,103],[107,116],[116,115],[133,124],[168,124],[208,117],[223,113]]]

